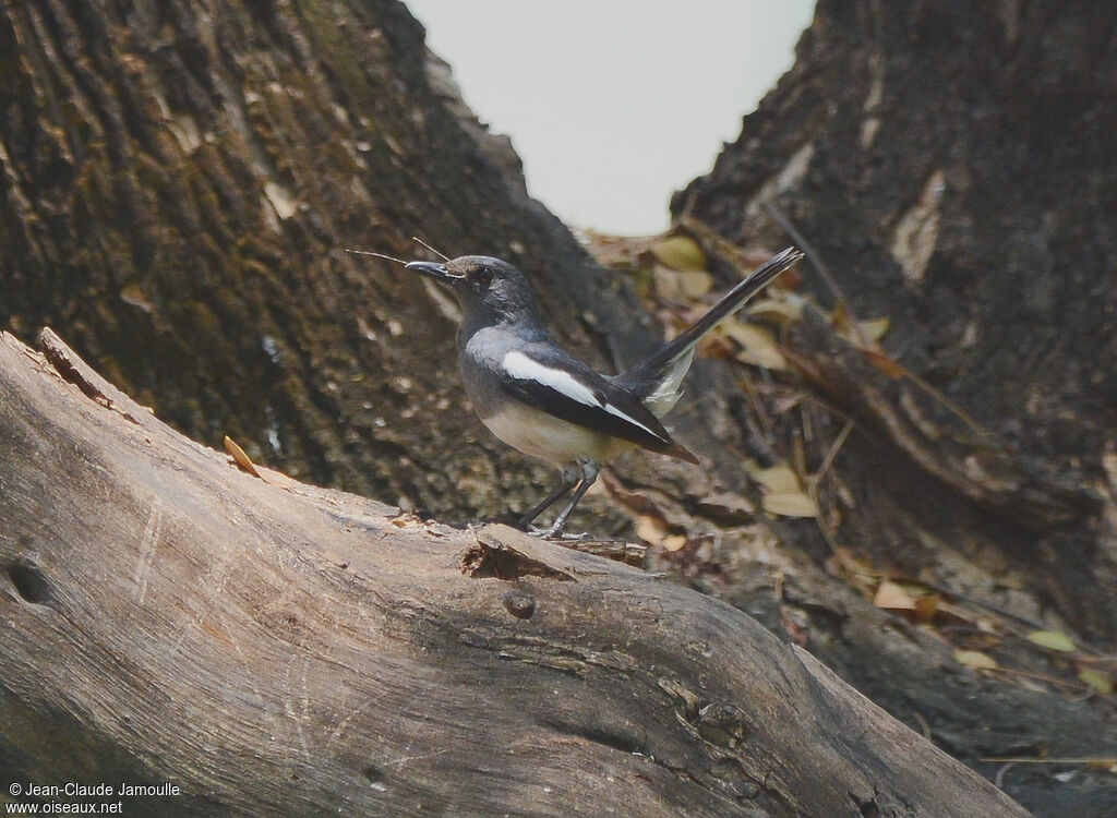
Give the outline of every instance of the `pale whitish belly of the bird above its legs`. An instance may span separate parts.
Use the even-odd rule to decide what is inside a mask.
[[[584,458],[605,460],[633,446],[516,401],[481,421],[513,448],[560,467]]]

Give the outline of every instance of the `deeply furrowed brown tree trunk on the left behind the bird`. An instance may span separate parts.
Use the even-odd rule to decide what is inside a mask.
[[[634,302],[401,3],[4,3],[0,69],[0,324],[65,327],[176,428],[321,484],[467,519],[550,479],[449,411],[445,305],[343,248],[420,235],[574,284],[544,299],[588,353]]]

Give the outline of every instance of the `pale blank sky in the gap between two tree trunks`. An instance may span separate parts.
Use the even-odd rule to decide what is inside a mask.
[[[667,228],[791,67],[814,0],[405,0],[528,191],[571,227]]]

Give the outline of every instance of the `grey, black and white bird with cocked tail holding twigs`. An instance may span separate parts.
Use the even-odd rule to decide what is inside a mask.
[[[658,351],[615,375],[596,372],[555,343],[527,278],[507,261],[461,256],[404,266],[457,297],[458,367],[481,422],[505,444],[558,469],[558,486],[519,519],[523,531],[554,539],[563,535],[601,463],[622,451],[642,448],[699,464],[660,422],[682,394],[695,346],[802,257],[794,247],[773,256]],[[536,527],[535,520],[567,494],[552,524]]]

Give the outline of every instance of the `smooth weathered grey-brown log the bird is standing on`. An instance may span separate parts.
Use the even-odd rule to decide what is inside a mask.
[[[266,483],[66,355],[0,342],[18,780],[180,786],[159,815],[1025,815],[723,602]]]

